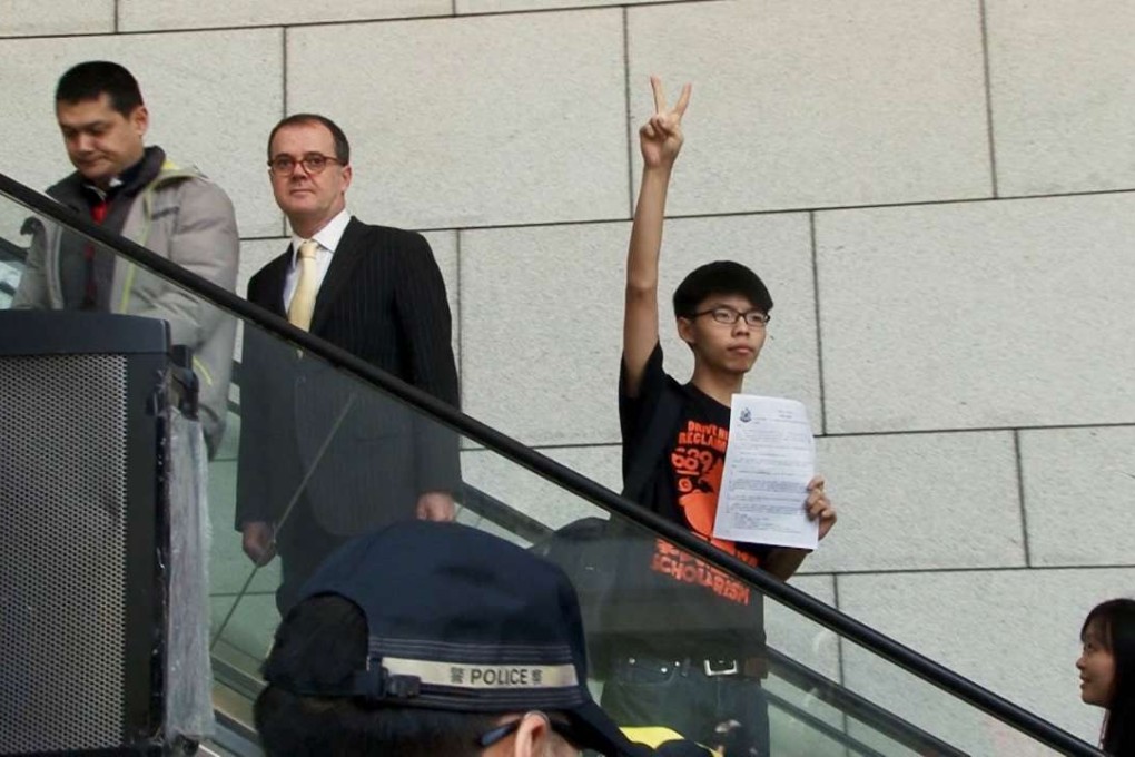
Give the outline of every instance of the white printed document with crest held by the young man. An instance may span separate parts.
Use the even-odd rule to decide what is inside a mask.
[[[714,537],[815,549],[819,527],[804,508],[815,474],[816,444],[804,404],[734,394]]]

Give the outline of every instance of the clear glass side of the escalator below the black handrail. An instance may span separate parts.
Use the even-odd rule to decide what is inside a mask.
[[[8,306],[27,246],[14,221],[31,213],[7,199],[2,204],[0,306]],[[135,268],[66,236],[73,249],[96,249],[116,267]],[[196,318],[213,328],[235,326],[232,316],[141,268],[133,286],[145,297],[195,303]],[[129,293],[123,301],[135,302]],[[175,338],[184,333],[174,329]],[[583,606],[592,688],[627,726],[667,726],[714,741],[705,722],[721,710],[700,724],[691,715],[731,697],[733,716],[773,755],[1048,754],[729,571],[611,519],[481,439],[461,438],[254,323],[241,325],[235,360],[227,428],[209,464],[209,596],[215,675],[224,690],[216,703],[236,717],[247,708],[225,701],[254,698],[279,607],[303,578],[351,535],[415,518],[422,493],[447,491],[460,522],[565,565]],[[227,365],[199,369],[209,392]],[[259,566],[246,554],[258,550]]]

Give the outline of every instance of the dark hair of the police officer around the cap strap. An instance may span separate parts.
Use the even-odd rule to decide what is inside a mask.
[[[367,658],[367,619],[334,595],[296,605],[276,631],[264,661],[274,680],[346,685]],[[253,707],[268,757],[474,757],[478,739],[491,731],[491,714],[451,713],[375,705],[358,697],[312,697],[268,685]]]

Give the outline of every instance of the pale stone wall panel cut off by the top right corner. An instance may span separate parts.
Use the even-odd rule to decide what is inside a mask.
[[[985,7],[1001,194],[1135,187],[1135,6]]]

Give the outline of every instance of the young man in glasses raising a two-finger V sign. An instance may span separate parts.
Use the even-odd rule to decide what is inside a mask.
[[[731,398],[760,354],[773,306],[760,278],[731,261],[708,263],[687,276],[673,303],[678,334],[693,352],[693,376],[679,384],[663,369],[658,256],[690,86],[667,109],[662,83],[655,77],[650,83],[655,113],[639,131],[645,166],[627,260],[619,386],[624,494],[787,580],[805,550],[713,538]],[[802,506],[818,519],[824,538],[835,512],[822,478],[808,488]],[[623,725],[667,725],[703,743],[729,742],[730,754],[767,754],[762,597],[662,540],[651,552],[636,558],[641,564],[622,566],[621,578],[636,579],[616,587],[606,613],[611,636],[603,645],[609,668],[604,708]]]

